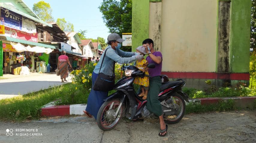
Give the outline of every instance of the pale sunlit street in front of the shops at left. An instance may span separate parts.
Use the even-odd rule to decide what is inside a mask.
[[[47,89],[49,86],[59,86],[60,76],[56,74],[37,74],[37,75],[10,75],[9,79],[0,80],[0,99],[15,97],[27,94],[32,91]],[[69,82],[71,82],[69,77]]]

